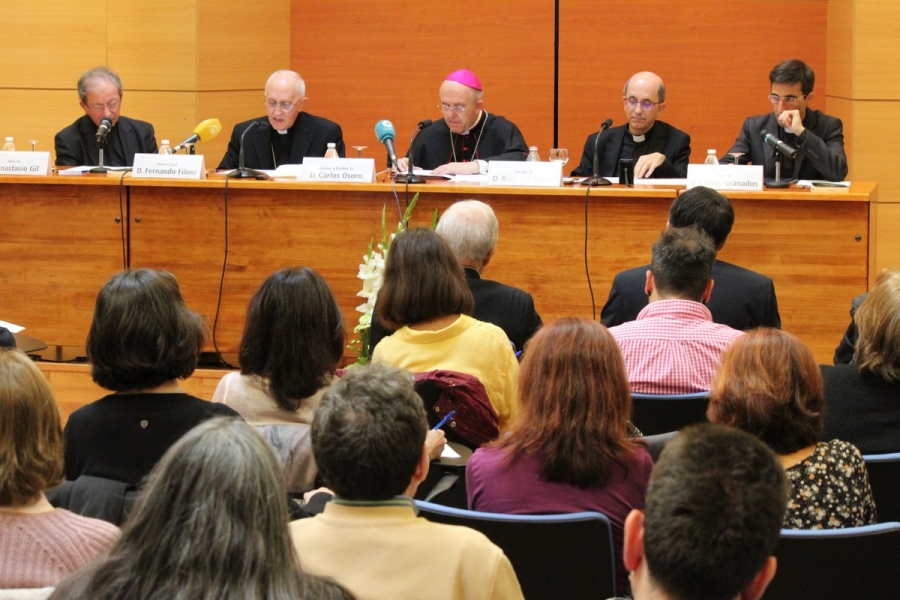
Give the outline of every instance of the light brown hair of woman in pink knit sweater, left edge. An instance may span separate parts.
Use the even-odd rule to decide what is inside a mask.
[[[58,485],[62,427],[50,385],[23,352],[0,349],[0,506],[21,506]]]

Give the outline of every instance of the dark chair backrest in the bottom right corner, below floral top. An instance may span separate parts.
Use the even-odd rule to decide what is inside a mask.
[[[847,529],[783,529],[766,600],[896,598],[900,523]]]

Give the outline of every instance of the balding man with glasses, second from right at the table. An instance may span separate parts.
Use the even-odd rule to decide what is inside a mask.
[[[691,136],[658,121],[666,108],[666,86],[655,73],[636,73],[622,90],[627,123],[597,133],[584,143],[581,163],[572,175],[589,176],[594,170],[594,148],[600,157],[598,175],[615,177],[619,160],[634,160],[635,177],[686,177],[691,157]]]

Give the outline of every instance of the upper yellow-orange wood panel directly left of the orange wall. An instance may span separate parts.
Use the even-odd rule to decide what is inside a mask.
[[[198,91],[261,91],[273,71],[289,68],[290,0],[266,0],[252,5],[241,0],[196,3]],[[330,19],[334,18],[334,14],[330,15]],[[334,40],[345,41],[340,35],[330,41]]]

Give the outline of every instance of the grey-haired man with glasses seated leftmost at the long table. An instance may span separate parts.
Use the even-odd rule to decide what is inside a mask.
[[[94,67],[81,74],[78,99],[84,116],[57,133],[54,139],[57,166],[99,165],[97,130],[104,119],[108,123],[103,149],[105,166],[130,167],[136,153],[157,151],[153,125],[119,114],[122,80],[107,67]]]

